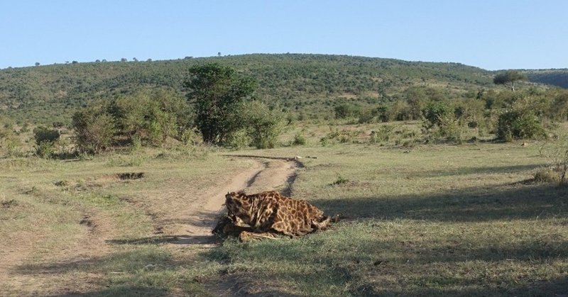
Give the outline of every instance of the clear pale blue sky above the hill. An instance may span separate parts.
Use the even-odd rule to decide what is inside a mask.
[[[318,53],[568,68],[566,0],[5,0],[0,68]]]

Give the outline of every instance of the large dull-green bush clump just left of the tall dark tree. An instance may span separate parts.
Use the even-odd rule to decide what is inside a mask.
[[[168,89],[143,90],[114,101],[93,101],[72,118],[80,152],[111,145],[162,145],[168,137],[187,142],[192,116],[187,103]]]

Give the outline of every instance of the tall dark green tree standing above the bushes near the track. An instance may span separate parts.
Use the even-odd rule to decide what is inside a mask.
[[[197,129],[204,142],[223,144],[239,130],[234,125],[239,103],[250,99],[256,82],[241,77],[231,67],[217,63],[191,67],[184,86],[187,98],[195,106]]]

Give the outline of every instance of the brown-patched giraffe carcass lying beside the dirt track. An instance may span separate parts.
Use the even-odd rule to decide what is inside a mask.
[[[213,232],[239,234],[242,241],[275,238],[276,233],[301,236],[326,229],[332,220],[307,201],[288,198],[276,191],[252,195],[243,191],[230,192],[225,199],[228,214]]]

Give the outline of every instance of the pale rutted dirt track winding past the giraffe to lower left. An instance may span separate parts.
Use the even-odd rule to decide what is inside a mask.
[[[45,238],[25,232],[14,235],[21,237],[18,245],[0,252],[0,295],[55,296],[97,291],[97,281],[104,279],[104,271],[94,272],[88,267],[104,261],[116,247],[120,249],[120,245],[163,242],[171,252],[184,257],[191,251],[213,247],[216,237],[211,231],[224,208],[227,192],[256,193],[275,189],[290,194],[289,183],[301,166],[293,159],[247,158],[253,163],[249,169],[229,178],[224,176],[222,184],[209,189],[195,191],[195,186],[174,178],[171,184],[163,184],[153,191],[121,198],[126,202],[125,208],[143,211],[151,218],[154,234],[149,237],[121,239],[121,230],[108,213],[87,207],[77,208],[82,213],[82,220],[78,222],[82,232],[75,240],[65,240],[58,249],[50,249],[50,254],[40,262],[34,261],[33,255]],[[199,247],[193,249],[188,245]],[[178,250],[180,253],[176,252]],[[79,267],[85,268],[84,271]]]

